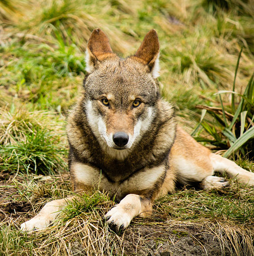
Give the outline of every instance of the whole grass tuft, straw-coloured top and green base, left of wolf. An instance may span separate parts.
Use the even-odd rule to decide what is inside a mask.
[[[65,170],[63,118],[22,110],[14,103],[7,109],[0,108],[0,172],[53,174]]]

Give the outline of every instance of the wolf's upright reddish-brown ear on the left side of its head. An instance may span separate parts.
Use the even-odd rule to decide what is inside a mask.
[[[108,37],[100,28],[96,28],[92,32],[86,48],[86,71],[92,73],[98,61],[113,56],[116,54],[110,47]]]

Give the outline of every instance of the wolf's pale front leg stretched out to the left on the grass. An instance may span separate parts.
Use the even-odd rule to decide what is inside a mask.
[[[33,217],[21,224],[22,231],[31,231],[33,229],[46,228],[55,218],[60,214],[68,202],[72,201],[73,197],[67,197],[63,199],[53,200],[46,203],[46,205],[40,210],[40,212]]]

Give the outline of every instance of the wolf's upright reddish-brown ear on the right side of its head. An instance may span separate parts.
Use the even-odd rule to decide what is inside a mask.
[[[153,78],[159,76],[159,50],[158,36],[156,31],[152,29],[146,34],[141,46],[134,54],[135,57],[141,59],[143,64],[148,65]]]

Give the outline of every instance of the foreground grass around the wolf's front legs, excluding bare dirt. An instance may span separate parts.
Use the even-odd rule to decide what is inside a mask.
[[[24,186],[24,190],[27,193],[26,200],[31,202],[36,211],[52,197],[61,198],[70,195],[70,187],[66,187],[63,180],[39,185],[31,181],[28,187]],[[20,192],[24,193],[24,190]],[[106,223],[101,218],[112,207],[113,202],[109,200],[107,194],[95,190],[91,195],[82,195],[78,200],[70,203],[58,220],[43,231],[38,230],[25,235],[19,233],[18,227],[22,220],[19,220],[19,214],[13,214],[13,217],[10,216],[2,222],[0,248],[2,253],[6,252],[8,255],[29,254],[32,249],[35,255],[43,253],[50,255],[53,250],[59,255],[68,255],[68,253],[72,255],[78,251],[80,253],[85,251],[88,255],[95,254],[95,251],[97,255],[110,255],[111,253],[118,255],[123,252],[125,244],[128,255],[131,253],[128,236],[135,236],[135,229],[146,228],[146,232],[149,232],[149,228],[156,225],[157,230],[165,236],[166,230],[163,228],[170,227],[172,223],[174,225],[181,223],[178,229],[176,226],[171,227],[172,238],[176,236],[179,240],[190,236],[188,229],[183,231],[179,228],[185,225],[195,225],[196,232],[208,232],[206,230],[209,230],[215,237],[219,237],[225,248],[227,246],[231,248],[233,255],[251,255],[254,250],[251,245],[253,239],[251,233],[254,231],[253,195],[253,189],[237,184],[225,190],[214,190],[209,193],[194,189],[180,189],[172,195],[157,200],[151,218],[134,219],[129,229],[116,236],[109,232]],[[24,194],[19,194],[19,196],[24,198]],[[17,202],[20,201],[19,199]],[[8,221],[13,224],[8,225]],[[202,228],[203,231],[201,231]],[[149,241],[163,239],[155,234],[151,234],[148,238],[150,238]],[[142,234],[140,239],[147,241],[148,238]],[[157,246],[161,243],[163,241]],[[138,247],[138,244],[134,243],[134,246]],[[206,246],[205,243],[204,246]]]

